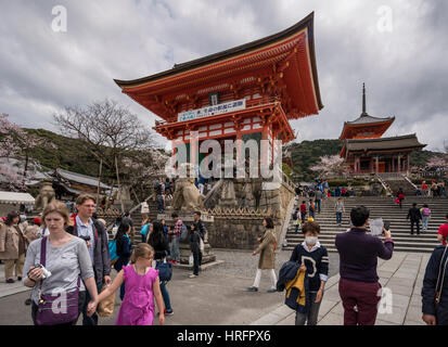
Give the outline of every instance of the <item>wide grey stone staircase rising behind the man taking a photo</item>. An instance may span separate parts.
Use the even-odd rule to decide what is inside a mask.
[[[302,203],[302,197],[297,201]],[[440,224],[445,223],[445,216],[448,213],[448,198],[427,198],[418,196],[406,196],[402,203],[402,209],[394,204],[392,197],[346,197],[344,200],[345,214],[343,215],[342,227],[336,224],[336,215],[334,213],[334,204],[336,198],[330,197],[322,202],[322,210],[320,214],[316,214],[316,221],[321,227],[319,235],[320,243],[324,245],[329,252],[337,252],[334,245],[334,240],[337,233],[345,232],[349,228],[349,215],[350,209],[355,206],[364,205],[370,209],[371,218],[382,217],[383,220],[391,221],[392,236],[395,243],[395,250],[398,252],[418,252],[418,253],[431,253],[436,246],[439,245],[437,241],[437,231]],[[420,235],[410,235],[410,222],[406,220],[408,209],[412,207],[412,203],[417,203],[418,207],[422,207],[423,204],[428,204],[432,216],[428,221],[428,231],[423,232],[421,228]],[[298,207],[298,206],[297,206]],[[297,243],[304,241],[304,236],[298,231],[298,234],[294,233],[295,227],[293,220],[290,221],[290,226],[286,232],[287,246],[283,249],[292,250]]]

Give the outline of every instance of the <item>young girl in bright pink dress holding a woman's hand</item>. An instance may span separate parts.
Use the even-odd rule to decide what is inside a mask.
[[[152,325],[154,321],[154,298],[157,303],[161,325],[165,322],[164,306],[158,281],[158,271],[151,267],[154,249],[140,243],[133,249],[131,265],[123,267],[114,282],[101,292],[97,301],[90,301],[88,314],[91,316],[104,298],[117,291],[125,282],[126,294],[119,308],[116,325]]]

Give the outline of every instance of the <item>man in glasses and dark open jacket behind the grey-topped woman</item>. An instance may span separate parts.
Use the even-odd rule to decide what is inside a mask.
[[[77,215],[72,216],[74,226],[67,228],[67,232],[86,241],[90,260],[97,282],[98,293],[104,284],[108,285],[111,279],[111,256],[108,253],[108,237],[104,226],[92,218],[95,209],[94,198],[88,194],[81,194],[76,200]],[[87,293],[86,305],[82,309],[82,325],[98,325],[98,314],[87,316],[87,304],[90,296]]]

